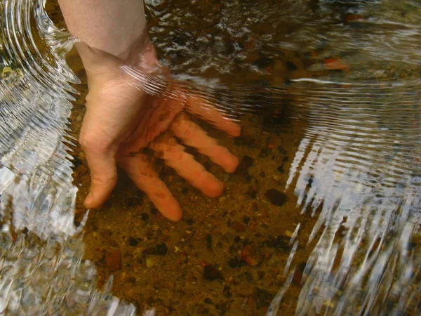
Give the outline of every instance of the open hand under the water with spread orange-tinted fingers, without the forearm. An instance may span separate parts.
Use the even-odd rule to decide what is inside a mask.
[[[88,48],[78,49],[80,52]],[[100,54],[97,57],[88,65],[84,62],[89,93],[79,141],[91,171],[90,193],[84,205],[98,208],[105,202],[116,185],[116,165],[119,164],[163,216],[180,220],[180,204],[143,152],[147,147],[204,195],[218,197],[222,194],[223,184],[185,152],[185,147],[175,137],[232,173],[238,159],[189,120],[186,112],[199,116],[230,136],[239,136],[240,127],[225,119],[206,100],[183,91],[175,83],[166,86],[167,93],[149,95],[139,86],[142,82],[122,72],[119,60]],[[138,65],[142,72],[159,68],[152,46],[142,53],[142,57]]]

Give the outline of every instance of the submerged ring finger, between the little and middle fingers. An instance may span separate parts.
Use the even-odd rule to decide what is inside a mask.
[[[212,162],[222,166],[222,168],[232,173],[239,165],[239,159],[227,148],[218,145],[214,138],[192,122],[186,114],[180,113],[171,125],[174,135],[182,140],[185,145],[194,147],[201,154],[205,154]]]

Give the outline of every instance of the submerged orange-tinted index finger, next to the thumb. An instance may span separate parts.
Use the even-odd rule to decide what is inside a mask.
[[[144,154],[137,154],[134,157],[121,157],[119,158],[119,164],[165,218],[173,220],[173,222],[182,218],[180,204],[159,178],[152,164],[147,162]]]

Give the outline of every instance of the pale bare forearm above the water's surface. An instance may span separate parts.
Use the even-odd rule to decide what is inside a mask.
[[[146,36],[143,0],[58,0],[69,32],[121,60]],[[81,51],[79,50],[79,53]],[[83,55],[81,56],[83,59]]]

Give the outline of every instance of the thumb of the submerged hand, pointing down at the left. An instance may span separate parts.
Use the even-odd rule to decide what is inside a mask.
[[[96,209],[111,195],[117,182],[117,169],[113,146],[89,137],[82,135],[80,139],[91,173],[91,187],[83,205],[88,209]]]

